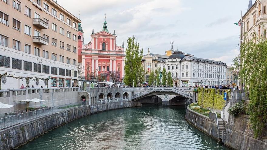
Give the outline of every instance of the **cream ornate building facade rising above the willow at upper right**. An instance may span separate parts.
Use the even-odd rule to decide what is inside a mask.
[[[256,0],[254,4],[252,4],[252,0],[249,0],[248,10],[245,15],[242,16],[243,40],[251,39],[253,36],[256,36],[256,38],[266,38],[266,7],[267,0]],[[241,22],[241,20],[239,22]]]

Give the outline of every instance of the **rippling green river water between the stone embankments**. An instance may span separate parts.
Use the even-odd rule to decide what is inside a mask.
[[[228,150],[185,120],[185,106],[147,105],[76,119],[19,150]]]

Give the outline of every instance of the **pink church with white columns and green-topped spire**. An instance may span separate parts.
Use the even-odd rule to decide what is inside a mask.
[[[110,71],[113,71],[120,77],[121,82],[124,77],[124,44],[123,42],[122,46],[116,44],[115,30],[111,34],[106,24],[105,17],[103,30],[94,33],[93,29],[88,44],[84,44],[83,29],[81,24],[78,24],[78,63],[82,64],[82,76],[86,80],[94,78],[113,82],[110,77]]]

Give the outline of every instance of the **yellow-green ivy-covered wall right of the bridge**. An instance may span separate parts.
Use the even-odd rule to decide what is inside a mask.
[[[198,88],[198,105],[202,108],[222,110],[226,103],[224,100],[225,92],[228,96],[231,94],[229,89]]]

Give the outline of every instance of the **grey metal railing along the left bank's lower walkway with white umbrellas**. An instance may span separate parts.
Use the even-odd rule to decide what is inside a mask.
[[[67,110],[69,108],[73,108],[73,107],[77,107],[77,106],[81,106],[81,105],[86,105],[86,102],[87,101],[69,103],[69,104],[58,105],[58,106],[53,106],[53,107],[47,107],[47,108],[42,108],[42,109],[38,109],[35,111],[25,112],[25,113],[21,113],[18,115],[13,115],[13,116],[1,118],[0,119],[0,129],[11,127],[13,125],[17,125],[19,123],[22,123],[22,122],[25,122],[25,121],[28,121],[30,119],[40,117],[43,115],[52,114],[54,112],[64,111],[64,110]]]

